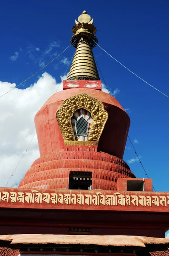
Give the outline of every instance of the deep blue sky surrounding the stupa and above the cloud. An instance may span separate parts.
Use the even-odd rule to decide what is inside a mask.
[[[99,45],[169,95],[167,0],[3,1],[0,8],[0,81],[19,84],[62,52],[70,44],[74,20],[84,10],[94,18]],[[74,50],[70,47],[45,68],[57,83]],[[169,191],[169,98],[125,70],[99,47],[93,52],[110,91],[119,90],[116,99],[127,109],[131,119],[130,138],[155,189]],[[44,71],[19,88],[30,87]],[[135,158],[127,141],[124,160],[130,163],[137,177],[146,177]]]

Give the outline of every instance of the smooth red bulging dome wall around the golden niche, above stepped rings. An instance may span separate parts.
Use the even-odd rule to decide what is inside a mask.
[[[76,88],[63,90],[52,95],[35,116],[35,126],[40,156],[60,150],[64,146],[62,134],[56,120],[56,111],[65,99],[79,93],[87,93],[103,102],[109,118],[98,145],[98,151],[123,157],[130,118],[118,101],[111,95],[99,90]]]

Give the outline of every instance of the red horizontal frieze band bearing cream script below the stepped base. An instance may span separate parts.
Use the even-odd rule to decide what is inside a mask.
[[[169,192],[1,188],[0,207],[169,212]]]

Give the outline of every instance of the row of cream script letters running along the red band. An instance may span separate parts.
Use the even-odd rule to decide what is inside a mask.
[[[80,192],[80,191],[79,191]],[[104,195],[101,192],[90,194],[72,193],[45,193],[37,190],[30,192],[0,192],[0,204],[56,204],[56,205],[88,205],[88,206],[144,206],[144,207],[168,207],[169,196],[164,195],[123,195],[113,192]]]

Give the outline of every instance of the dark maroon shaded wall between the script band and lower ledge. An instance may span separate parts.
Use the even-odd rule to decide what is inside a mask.
[[[2,191],[2,190],[1,190]],[[23,189],[24,191],[24,189]],[[25,189],[25,191],[29,191]],[[152,193],[153,194],[153,193]],[[112,207],[113,209],[113,207]],[[90,228],[92,235],[165,237],[168,212],[41,209],[0,207],[0,234],[68,234],[69,228]]]

